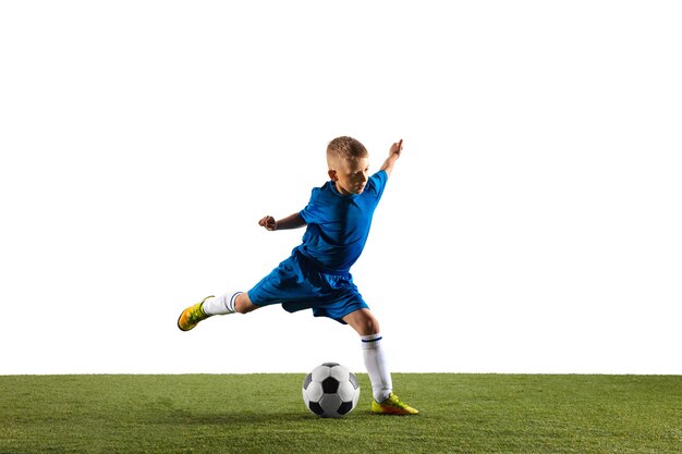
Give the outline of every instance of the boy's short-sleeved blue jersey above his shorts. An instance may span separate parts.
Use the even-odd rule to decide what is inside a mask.
[[[327,271],[348,272],[365,247],[387,181],[388,174],[380,170],[362,194],[342,195],[331,181],[313,189],[310,201],[300,212],[307,229],[296,249]]]

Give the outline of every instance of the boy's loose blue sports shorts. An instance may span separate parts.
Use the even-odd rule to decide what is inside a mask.
[[[248,297],[256,306],[281,304],[290,312],[313,309],[315,317],[329,317],[340,323],[345,323],[342,319],[349,314],[369,308],[351,273],[324,272],[295,249],[248,291]]]

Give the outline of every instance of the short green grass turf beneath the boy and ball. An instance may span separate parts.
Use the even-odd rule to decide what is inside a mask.
[[[682,376],[397,373],[322,419],[304,373],[0,377],[0,453],[682,453]]]

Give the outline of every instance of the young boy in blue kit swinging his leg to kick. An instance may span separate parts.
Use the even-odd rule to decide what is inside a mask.
[[[302,211],[278,221],[266,216],[258,222],[269,231],[307,225],[303,243],[248,292],[208,296],[186,308],[178,319],[178,328],[190,331],[210,316],[247,314],[272,304],[281,304],[290,312],[313,309],[315,317],[350,324],[360,334],[372,381],[372,412],[417,414],[392,392],[379,322],[350,273],[363,251],[374,210],[401,151],[402,140],[392,144],[381,169],[369,176],[369,155],[363,144],[352,137],[331,140],[327,147],[330,181],[313,189]]]

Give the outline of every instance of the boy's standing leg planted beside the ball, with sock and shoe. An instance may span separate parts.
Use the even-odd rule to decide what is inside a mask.
[[[383,415],[416,415],[416,408],[401,402],[393,394],[391,373],[386,361],[379,322],[368,309],[358,309],[343,317],[362,340],[363,358],[372,382],[372,412]]]

